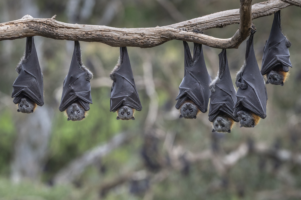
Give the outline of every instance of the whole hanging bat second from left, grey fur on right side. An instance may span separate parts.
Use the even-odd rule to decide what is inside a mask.
[[[69,72],[64,79],[59,110],[66,111],[67,120],[80,121],[86,116],[92,103],[90,79],[93,74],[82,64],[79,42],[74,42],[74,51]]]

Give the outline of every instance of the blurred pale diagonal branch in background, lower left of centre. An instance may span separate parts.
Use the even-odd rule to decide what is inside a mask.
[[[124,144],[129,139],[129,135],[120,133],[111,139],[108,143],[100,145],[90,151],[87,151],[81,157],[73,160],[66,168],[61,169],[54,177],[55,184],[66,184],[74,181],[87,166],[95,162],[120,145]]]

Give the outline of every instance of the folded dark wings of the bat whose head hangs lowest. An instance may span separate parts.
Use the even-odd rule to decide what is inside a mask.
[[[236,103],[236,91],[228,67],[226,49],[223,49],[219,54],[219,75],[221,78],[216,83],[215,92],[211,93],[210,97],[209,121],[212,122],[220,112],[224,112],[234,121],[239,122],[233,115],[233,107]]]

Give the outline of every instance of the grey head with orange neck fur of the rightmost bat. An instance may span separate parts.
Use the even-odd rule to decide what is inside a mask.
[[[283,86],[288,72],[284,72],[282,66],[274,67],[271,71],[266,74],[266,84],[273,84],[273,85],[281,85]]]

